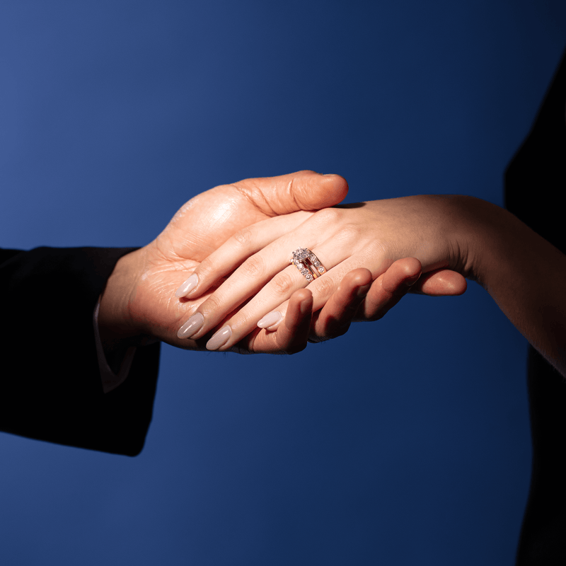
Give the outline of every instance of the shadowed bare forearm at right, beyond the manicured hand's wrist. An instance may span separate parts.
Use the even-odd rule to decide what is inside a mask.
[[[495,204],[470,202],[475,278],[524,337],[566,376],[566,255]]]

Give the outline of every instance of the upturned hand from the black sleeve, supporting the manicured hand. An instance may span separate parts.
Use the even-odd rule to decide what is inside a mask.
[[[242,234],[246,234],[250,226],[267,220],[277,223],[292,214],[311,215],[310,211],[331,207],[346,194],[347,183],[340,175],[299,171],[221,185],[197,195],[181,207],[154,241],[117,262],[103,292],[98,319],[107,357],[120,357],[129,345],[147,340],[163,340],[185,349],[204,350],[214,328],[201,333],[195,340],[180,339],[177,331],[204,301],[211,298],[221,277],[209,281],[207,289],[201,287],[196,296],[179,299],[175,290],[187,276],[235,234],[245,238]],[[420,275],[420,262],[413,258],[403,258],[391,267],[391,272],[385,274],[386,289],[391,292],[375,296],[376,308],[381,309],[381,313],[408,291],[405,284],[408,279]],[[461,277],[440,272],[417,290],[456,294],[458,289],[461,292],[461,283],[458,287],[456,281],[455,286],[454,276]],[[335,289],[335,297],[321,310],[320,306],[313,309],[313,294],[304,289],[306,285],[303,284],[289,294],[286,316],[275,332],[257,328],[254,323],[246,335],[234,340],[224,350],[294,353],[303,350],[309,338],[318,341],[340,335],[359,306],[360,289],[366,287],[362,289],[363,295],[369,289],[370,279],[367,270],[357,270],[345,277]],[[374,296],[373,291],[371,294]],[[229,318],[244,301],[216,317],[217,323]],[[314,317],[313,310],[319,311]]]

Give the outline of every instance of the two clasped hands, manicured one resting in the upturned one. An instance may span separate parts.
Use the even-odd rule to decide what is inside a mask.
[[[449,200],[338,205],[346,195],[340,175],[299,171],[192,198],[117,263],[100,304],[103,342],[294,353],[381,318],[408,291],[466,290],[466,253],[440,221]],[[289,265],[297,248],[326,268],[308,288]]]

